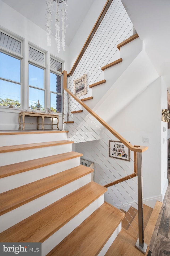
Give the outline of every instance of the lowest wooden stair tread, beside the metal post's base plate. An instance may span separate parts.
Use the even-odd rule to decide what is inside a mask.
[[[136,241],[136,238],[130,236],[128,232],[122,228],[105,256],[143,256],[144,254],[135,247]],[[149,248],[145,255],[147,255],[148,250]]]

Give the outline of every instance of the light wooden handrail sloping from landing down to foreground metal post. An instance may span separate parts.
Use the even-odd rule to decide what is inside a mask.
[[[117,131],[115,131],[108,123],[106,123],[103,119],[101,119],[93,110],[91,110],[84,102],[82,102],[78,97],[76,97],[72,92],[70,92],[69,89],[67,89],[67,71],[63,71],[61,74],[63,74],[63,88],[64,90],[69,93],[80,105],[82,105],[83,108],[85,108],[93,117],[97,119],[108,131],[110,131],[117,139],[119,139],[122,143],[125,144],[126,147],[128,147],[131,151],[134,152],[144,152],[148,149],[148,147],[145,146],[133,146],[130,144],[126,139],[124,139]]]

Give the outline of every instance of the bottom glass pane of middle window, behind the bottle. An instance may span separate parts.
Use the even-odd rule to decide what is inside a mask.
[[[44,110],[44,90],[29,87],[29,106],[36,109],[38,100],[40,101],[40,110]]]

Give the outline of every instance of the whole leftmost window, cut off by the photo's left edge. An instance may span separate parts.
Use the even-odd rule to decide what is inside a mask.
[[[21,42],[0,32],[0,106],[21,108]]]

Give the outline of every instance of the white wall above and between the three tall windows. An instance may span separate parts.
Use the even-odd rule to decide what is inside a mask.
[[[1,28],[8,30],[20,36],[24,39],[23,41],[23,55],[25,57],[24,70],[23,70],[23,106],[22,108],[28,108],[28,42],[34,44],[35,46],[40,47],[41,49],[47,52],[47,67],[50,65],[50,53],[58,60],[64,61],[64,69],[69,67],[69,48],[65,47],[65,52],[60,51],[60,54],[57,52],[57,44],[52,36],[51,47],[48,47],[46,40],[46,31],[35,25],[33,22],[25,18],[23,15],[12,9],[10,6],[6,5],[0,0],[0,24]],[[45,24],[44,24],[45,26]],[[49,74],[46,77],[46,92],[49,95]],[[50,107],[50,97],[46,95],[47,106]],[[19,109],[8,109],[7,107],[0,107],[1,115],[1,125],[0,129],[18,129],[18,113]]]

